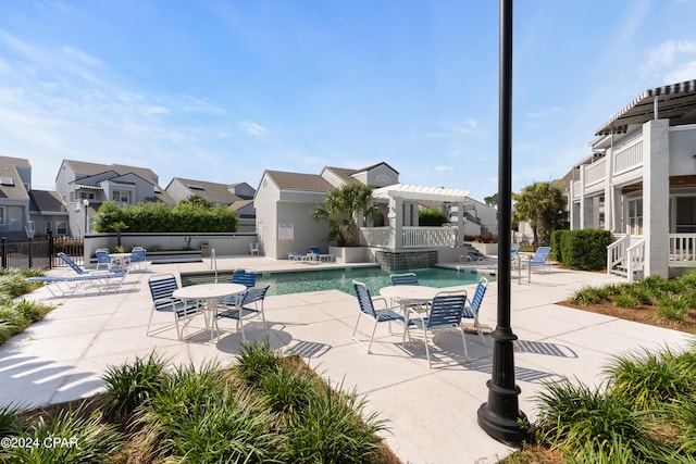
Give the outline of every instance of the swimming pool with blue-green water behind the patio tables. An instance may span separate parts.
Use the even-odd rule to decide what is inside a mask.
[[[447,269],[444,267],[426,267],[422,269],[386,272],[380,267],[347,267],[341,269],[302,271],[290,273],[262,273],[257,276],[257,287],[270,285],[268,294],[302,293],[319,290],[341,290],[352,294],[352,280],[364,283],[372,294],[378,294],[382,287],[390,285],[389,274],[406,272],[415,273],[420,285],[442,288],[455,285],[469,285],[478,281],[475,273]],[[495,280],[493,276],[485,276]],[[213,281],[213,274],[182,275],[182,285],[194,285]],[[219,273],[217,281],[229,281],[232,273]]]

